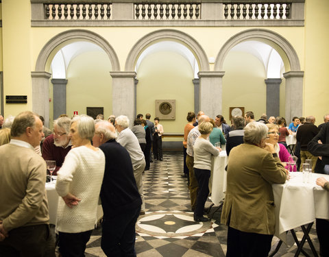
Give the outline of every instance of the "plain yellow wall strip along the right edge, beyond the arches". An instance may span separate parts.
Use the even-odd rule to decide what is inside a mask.
[[[316,124],[323,123],[329,113],[329,1],[306,1],[305,77],[303,115],[315,116]]]

